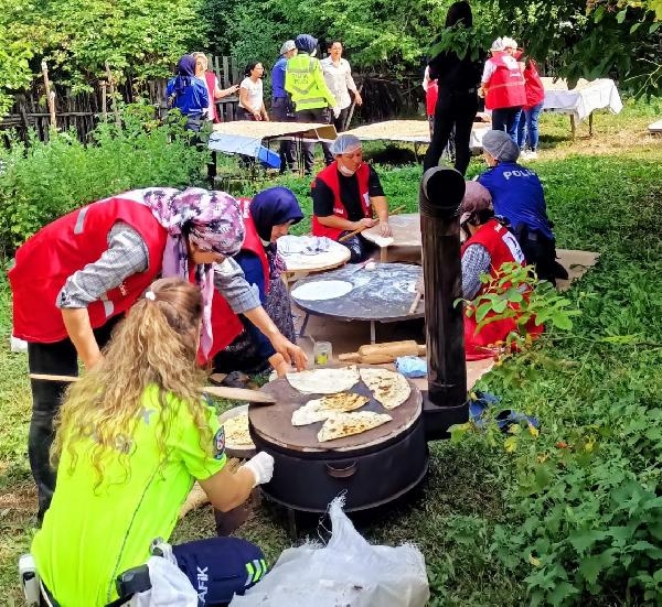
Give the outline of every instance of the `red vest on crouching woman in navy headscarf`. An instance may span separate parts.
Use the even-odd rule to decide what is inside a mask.
[[[265,248],[257,235],[257,229],[250,216],[250,198],[237,198],[239,208],[242,209],[242,218],[244,219],[244,226],[246,227],[246,237],[242,245],[243,251],[250,251],[256,254],[261,262],[263,272],[265,275],[265,291],[269,290],[269,261],[265,253]],[[224,350],[229,344],[232,344],[236,336],[244,330],[244,325],[241,318],[233,312],[229,304],[225,301],[223,295],[214,290],[214,297],[212,300],[212,335],[213,343],[212,349],[207,355],[207,359],[211,360],[220,351]],[[202,362],[204,358],[199,353],[199,360]]]

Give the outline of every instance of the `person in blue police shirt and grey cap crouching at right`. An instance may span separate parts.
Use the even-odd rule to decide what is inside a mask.
[[[556,261],[556,239],[541,180],[531,169],[517,164],[519,155],[520,148],[506,132],[488,131],[483,156],[489,169],[478,182],[490,192],[494,213],[509,220],[537,278],[556,284],[556,279],[567,279],[568,272]]]

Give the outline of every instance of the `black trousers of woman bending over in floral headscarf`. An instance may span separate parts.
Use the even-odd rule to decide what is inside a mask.
[[[104,326],[95,329],[94,334],[99,347],[110,339],[110,333],[121,316],[110,318]],[[31,373],[50,373],[56,376],[77,376],[78,356],[71,339],[54,344],[28,344],[28,368]],[[55,470],[51,467],[50,452],[53,444],[53,419],[68,382],[30,380],[32,388],[32,419],[28,434],[28,456],[30,469],[36,484],[39,510],[38,521],[51,505],[55,490]]]

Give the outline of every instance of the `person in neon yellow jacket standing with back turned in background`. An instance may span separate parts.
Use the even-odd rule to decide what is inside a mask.
[[[287,59],[285,90],[295,104],[297,122],[321,122],[329,124],[333,116],[340,115],[340,106],[329,90],[320,59],[314,57],[318,41],[310,34],[299,34],[295,45],[297,55]],[[303,166],[306,174],[312,175],[314,143],[303,143]]]

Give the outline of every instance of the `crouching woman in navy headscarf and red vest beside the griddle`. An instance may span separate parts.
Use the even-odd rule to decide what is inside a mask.
[[[285,261],[278,254],[277,240],[289,232],[290,226],[303,219],[303,213],[291,189],[269,187],[253,200],[239,198],[246,238],[235,261],[242,267],[246,281],[257,288],[259,300],[278,327],[291,342],[296,340],[289,293],[281,274]],[[242,316],[244,333],[214,358],[214,369],[221,372],[241,370],[248,373],[274,367],[279,376],[289,370],[282,356],[247,318]]]

